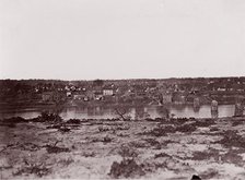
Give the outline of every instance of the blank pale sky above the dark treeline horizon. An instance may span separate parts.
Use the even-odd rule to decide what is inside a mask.
[[[236,75],[244,0],[0,0],[0,79]]]

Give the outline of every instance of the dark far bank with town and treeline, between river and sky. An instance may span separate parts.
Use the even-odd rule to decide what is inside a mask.
[[[165,80],[1,80],[0,105],[219,105],[245,97],[245,77]]]

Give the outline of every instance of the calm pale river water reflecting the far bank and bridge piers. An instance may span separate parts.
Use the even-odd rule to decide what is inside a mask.
[[[234,105],[220,105],[219,117],[232,117],[235,112]],[[63,119],[113,119],[118,118],[118,111],[127,113],[131,119],[162,118],[168,112],[175,118],[211,118],[211,107],[203,105],[200,108],[194,108],[191,105],[165,105],[165,106],[28,106],[0,108],[0,119],[11,117],[35,118],[42,112],[56,112]]]

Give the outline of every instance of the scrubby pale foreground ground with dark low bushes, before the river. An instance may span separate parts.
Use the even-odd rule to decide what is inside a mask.
[[[0,179],[245,179],[245,118],[0,121]]]

